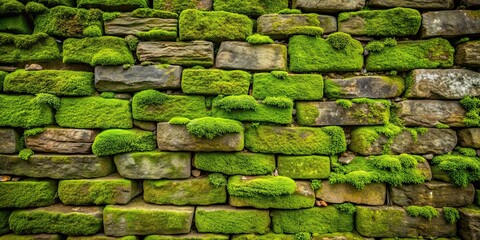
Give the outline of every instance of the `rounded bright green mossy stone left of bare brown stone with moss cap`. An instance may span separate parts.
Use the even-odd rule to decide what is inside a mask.
[[[151,151],[157,147],[152,132],[138,129],[109,129],[95,137],[92,151],[97,156],[108,156],[126,152]]]

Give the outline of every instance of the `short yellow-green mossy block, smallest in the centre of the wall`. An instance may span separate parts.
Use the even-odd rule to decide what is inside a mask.
[[[330,174],[330,158],[324,156],[278,156],[280,176],[293,179],[324,179]]]

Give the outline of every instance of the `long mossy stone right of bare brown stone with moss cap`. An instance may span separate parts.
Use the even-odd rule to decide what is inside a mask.
[[[252,152],[286,155],[334,155],[346,150],[345,135],[340,127],[274,127],[248,126],[245,147]]]

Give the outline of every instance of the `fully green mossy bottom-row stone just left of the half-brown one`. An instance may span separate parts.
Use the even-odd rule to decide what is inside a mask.
[[[335,233],[353,230],[353,215],[333,206],[271,212],[275,233]]]

